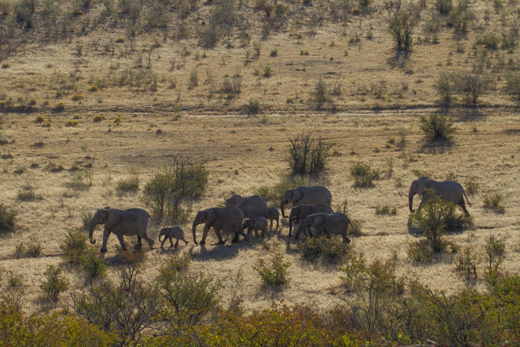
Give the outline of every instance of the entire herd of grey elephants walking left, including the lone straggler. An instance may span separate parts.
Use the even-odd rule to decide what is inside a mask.
[[[464,197],[466,200],[467,197],[464,188],[459,183],[453,181],[437,182],[427,177],[416,179],[410,185],[410,191],[407,195],[410,212],[415,212],[412,208],[414,195],[418,194],[421,196],[421,203],[417,209],[419,211],[430,198],[429,192],[431,191],[434,191],[440,198],[459,205],[464,213],[469,214],[464,201]],[[350,239],[347,237],[347,229],[349,224],[353,228],[354,226],[346,215],[332,210],[332,194],[327,188],[321,186],[301,186],[286,190],[280,199],[280,210],[284,218],[287,218],[284,207],[289,203],[292,204],[291,212],[289,213],[290,237],[293,232],[293,224],[297,223],[295,239],[302,232],[309,237],[320,237],[324,233],[329,238],[331,235],[341,235],[344,243],[350,242]],[[470,204],[469,200],[467,200],[467,203]],[[213,228],[218,238],[218,245],[224,245],[225,243],[221,232],[233,233],[234,237],[231,242],[238,242],[240,235],[245,240],[249,240],[253,231],[256,237],[259,234],[264,237],[269,235],[268,221],[270,221],[269,229],[272,229],[274,221],[276,221],[276,228],[278,229],[279,216],[278,209],[276,207],[268,208],[266,201],[262,197],[258,195],[242,197],[235,194],[226,199],[225,207],[212,207],[197,213],[192,225],[193,242],[196,245],[199,244],[197,242],[196,230],[200,224],[204,224],[202,239],[200,240],[201,245],[204,245],[207,233],[211,228]],[[152,247],[154,241],[146,234],[149,217],[150,215],[141,209],[118,210],[109,207],[99,209],[90,223],[90,243],[96,242],[93,238],[96,225],[103,224],[105,229],[103,231],[101,253],[107,252],[107,241],[111,233],[118,237],[122,249],[126,249],[124,236],[137,236],[136,247],[141,246],[141,239],[143,238]],[[247,233],[244,233],[246,229]],[[162,228],[159,233],[159,242],[161,242],[161,237],[163,236],[161,247],[164,246],[166,239],[170,240],[170,247],[174,246],[172,241],[174,238],[176,239],[175,247],[178,246],[179,240],[184,241],[186,244],[188,243],[184,238],[183,230],[178,226]]]

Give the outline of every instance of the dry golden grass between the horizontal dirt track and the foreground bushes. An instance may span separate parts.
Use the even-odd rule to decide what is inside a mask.
[[[518,211],[520,200],[518,188],[511,184],[520,171],[516,158],[518,126],[515,114],[483,113],[474,122],[456,122],[459,128],[454,145],[449,148],[424,148],[418,115],[413,112],[381,112],[362,114],[335,115],[268,115],[261,126],[255,119],[246,116],[226,115],[186,115],[172,122],[170,114],[123,114],[125,119],[120,126],[107,132],[107,125],[99,123],[80,123],[77,127],[64,127],[70,115],[48,114],[56,126],[47,129],[34,123],[32,115],[7,114],[4,116],[4,131],[14,143],[4,145],[13,158],[2,160],[0,169],[5,169],[0,194],[9,204],[17,204],[19,210],[16,231],[7,234],[0,245],[0,257],[9,258],[0,261],[1,265],[22,275],[28,290],[27,308],[38,309],[37,285],[48,264],[58,264],[59,258],[46,256],[60,252],[59,245],[69,230],[83,226],[84,211],[94,211],[103,206],[144,207],[142,192],[137,195],[121,197],[116,190],[116,182],[127,175],[129,165],[141,168],[141,182],[147,182],[151,174],[160,169],[161,163],[171,155],[183,153],[196,159],[208,161],[210,185],[203,200],[193,207],[199,209],[218,205],[231,192],[243,195],[252,194],[259,186],[270,186],[278,182],[279,174],[287,172],[284,156],[288,147],[288,137],[309,128],[319,132],[324,139],[335,143],[334,150],[339,154],[331,158],[328,187],[333,195],[333,208],[342,210],[342,202],[347,201],[347,214],[363,222],[362,236],[354,237],[352,245],[365,253],[366,259],[388,259],[397,250],[398,272],[418,276],[434,288],[456,290],[465,286],[465,282],[454,272],[454,261],[439,261],[428,266],[414,266],[406,259],[408,242],[415,239],[408,233],[408,182],[415,178],[414,170],[432,173],[435,177],[445,177],[450,171],[455,172],[461,182],[467,177],[479,177],[480,191],[498,192],[507,198],[504,214],[488,212],[484,209],[483,196],[471,197],[470,213],[474,217],[475,230],[461,235],[449,235],[450,240],[474,247],[482,247],[484,238],[489,234],[509,235],[506,247],[504,268],[509,272],[520,271],[520,262],[514,252],[518,239]],[[115,115],[115,114],[114,114]],[[107,119],[114,115],[105,114]],[[133,117],[135,116],[135,117]],[[92,114],[83,114],[88,119]],[[400,157],[398,145],[385,148],[388,138],[397,136],[401,125],[409,128],[406,151],[408,158]],[[474,133],[476,124],[482,131]],[[161,134],[157,135],[157,129]],[[247,134],[244,137],[244,134]],[[174,141],[164,142],[164,138]],[[32,146],[37,140],[45,138],[45,146]],[[375,153],[373,148],[381,151]],[[272,147],[272,150],[270,148]],[[356,155],[349,153],[355,152]],[[374,188],[356,189],[353,178],[349,175],[352,164],[360,158],[370,163],[372,168],[385,168],[385,158],[395,158],[392,178],[382,175],[375,181]],[[71,173],[67,169],[73,165],[88,165],[93,162],[93,186],[84,190],[70,187]],[[17,175],[14,168],[38,161],[40,168],[28,169]],[[66,170],[49,173],[48,163],[63,165]],[[453,166],[457,163],[457,167]],[[482,168],[487,168],[482,170]],[[238,173],[238,174],[236,174]],[[402,186],[396,187],[396,178],[402,179]],[[19,202],[19,190],[31,182],[42,195],[42,201]],[[376,216],[374,209],[383,203],[397,207],[396,216]],[[287,224],[282,222],[279,235],[274,236],[280,242],[271,248],[284,252],[291,263],[289,275],[291,284],[282,293],[268,293],[262,289],[262,283],[253,269],[256,259],[266,256],[261,241],[241,242],[239,245],[193,247],[190,241],[181,251],[193,247],[195,266],[203,268],[219,278],[228,272],[235,273],[239,268],[244,275],[246,291],[245,308],[248,310],[265,307],[272,300],[284,299],[290,304],[312,300],[319,307],[332,307],[339,298],[334,294],[340,284],[340,273],[334,268],[323,268],[302,263],[296,245],[287,239]],[[149,225],[149,235],[157,242],[158,230],[153,222]],[[190,238],[190,225],[182,226]],[[199,228],[198,233],[201,233]],[[96,230],[97,238],[101,232]],[[198,235],[200,239],[200,235]],[[42,246],[39,258],[11,259],[17,245],[23,240],[32,239]],[[210,233],[207,245],[216,242]],[[110,260],[116,251],[118,241],[109,240]],[[94,246],[89,246],[94,247]],[[95,245],[96,250],[99,245]],[[165,255],[155,248],[150,250],[148,264],[158,268]],[[115,269],[110,272],[115,274]],[[68,276],[72,276],[70,272]],[[71,288],[83,286],[80,278],[71,278]],[[34,288],[33,288],[34,286]],[[483,282],[478,280],[476,287],[483,289]]]

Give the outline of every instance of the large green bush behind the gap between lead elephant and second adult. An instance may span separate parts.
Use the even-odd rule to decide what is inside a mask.
[[[161,218],[180,217],[181,204],[202,196],[208,176],[205,162],[175,156],[163,166],[162,173],[153,175],[145,185],[147,202]]]

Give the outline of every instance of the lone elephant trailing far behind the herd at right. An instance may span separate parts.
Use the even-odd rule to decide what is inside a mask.
[[[408,208],[410,209],[410,212],[415,212],[413,209],[413,196],[415,194],[421,196],[421,203],[419,204],[417,211],[420,211],[423,204],[425,204],[426,201],[430,199],[430,195],[428,195],[428,193],[425,191],[427,188],[433,188],[435,190],[435,194],[441,199],[459,205],[466,215],[470,214],[466,210],[464,197],[466,198],[467,203],[471,206],[470,200],[467,199],[464,188],[459,183],[454,181],[437,182],[433,179],[422,179],[422,177],[415,179],[415,181],[413,181],[410,185],[410,192],[407,195]]]

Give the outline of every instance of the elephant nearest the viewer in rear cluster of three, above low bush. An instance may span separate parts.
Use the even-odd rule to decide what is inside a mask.
[[[343,237],[343,243],[350,243],[350,239],[347,237],[347,229],[348,224],[352,225],[352,223],[343,213],[311,214],[305,219],[304,224],[308,228],[314,228],[314,234],[311,233],[311,236],[320,237],[322,233],[325,233],[330,238],[331,234],[339,234]],[[353,225],[352,227],[354,228]],[[354,230],[356,229],[354,228]]]

